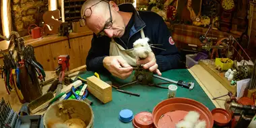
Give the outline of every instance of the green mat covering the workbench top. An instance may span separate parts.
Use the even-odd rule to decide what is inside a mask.
[[[80,74],[79,76],[86,79],[86,77],[90,77],[94,75],[94,72],[86,71],[85,73]],[[178,87],[176,97],[184,97],[191,98],[193,100],[197,100],[201,102],[210,110],[214,109],[215,106],[208,98],[207,94],[202,90],[194,77],[187,71],[187,69],[176,69],[165,71],[162,73],[163,77],[167,77],[173,79],[175,81],[183,80],[185,82],[194,82],[195,87],[193,90],[188,90],[187,88]],[[131,77],[122,80],[117,79],[112,76],[106,76],[100,74],[100,79],[103,81],[111,81],[115,80],[116,82],[122,82],[125,84],[131,81]],[[155,83],[164,82],[160,79],[154,78]],[[162,85],[168,86],[168,85]],[[167,98],[167,89],[142,86],[139,84],[127,86],[121,88],[122,90],[127,90],[129,92],[133,92],[136,94],[140,94],[139,97],[131,96],[129,94],[123,94],[121,92],[117,92],[115,88],[113,88],[113,100],[106,104],[102,104],[100,100],[94,97],[92,94],[89,94],[88,99],[93,101],[92,109],[94,112],[94,127],[96,128],[104,128],[104,127],[133,127],[132,122],[130,123],[122,123],[119,121],[119,112],[122,109],[130,109],[133,111],[133,115],[141,111],[149,111],[152,112],[154,106],[156,106],[162,100],[166,100]]]

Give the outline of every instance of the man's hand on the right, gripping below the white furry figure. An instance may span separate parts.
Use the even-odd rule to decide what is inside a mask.
[[[150,52],[146,59],[137,60],[137,65],[143,65],[144,69],[149,69],[151,72],[162,75],[158,69],[158,64],[156,64],[156,57],[153,52]]]

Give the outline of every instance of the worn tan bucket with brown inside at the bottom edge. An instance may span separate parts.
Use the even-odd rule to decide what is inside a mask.
[[[92,128],[94,113],[92,107],[83,100],[62,100],[52,104],[44,114],[44,127],[53,128],[57,124],[67,124],[67,121],[75,125],[85,123],[85,128]],[[78,124],[80,123],[80,124]],[[78,128],[78,127],[77,127]]]

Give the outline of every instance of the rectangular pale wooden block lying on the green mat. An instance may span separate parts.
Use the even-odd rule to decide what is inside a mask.
[[[88,91],[104,104],[112,100],[112,87],[98,77],[87,78]]]

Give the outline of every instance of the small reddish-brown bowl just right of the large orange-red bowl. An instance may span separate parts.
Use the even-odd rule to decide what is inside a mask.
[[[215,108],[212,110],[212,117],[214,118],[214,123],[222,127],[230,123],[232,115],[223,108]]]

